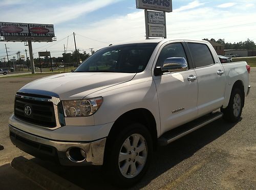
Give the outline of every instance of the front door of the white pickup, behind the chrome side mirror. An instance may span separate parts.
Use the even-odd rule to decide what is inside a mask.
[[[163,66],[167,58],[182,57],[188,63],[188,69],[180,72],[167,72],[161,76],[153,75],[161,119],[161,133],[184,124],[197,117],[197,80],[188,80],[196,72],[186,53],[184,42],[167,42],[160,47],[155,67]],[[154,68],[155,68],[154,67]],[[153,68],[153,70],[154,70]],[[154,72],[153,72],[154,73]]]

